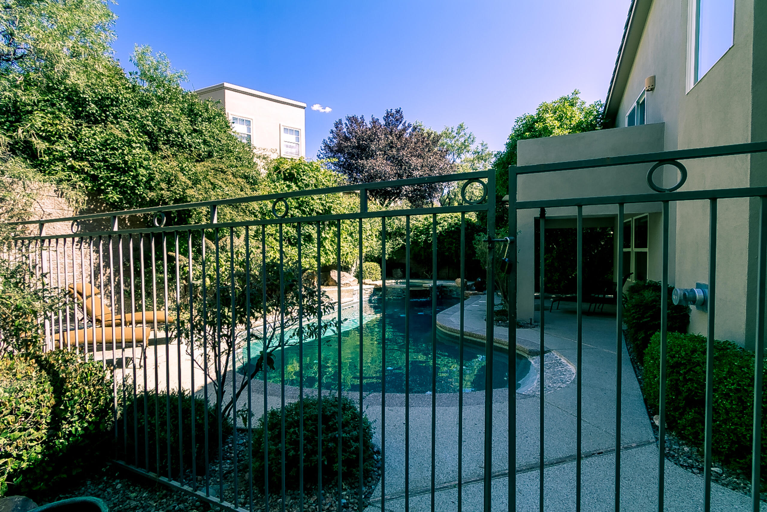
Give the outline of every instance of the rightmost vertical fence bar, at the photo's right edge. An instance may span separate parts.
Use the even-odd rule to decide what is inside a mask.
[[[756,274],[756,339],[754,345],[754,421],[751,462],[751,500],[759,512],[762,484],[762,382],[765,348],[765,276],[767,276],[767,197],[759,198],[759,263]],[[710,315],[710,313],[709,313]]]

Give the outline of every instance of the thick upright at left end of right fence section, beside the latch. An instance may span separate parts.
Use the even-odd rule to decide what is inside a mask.
[[[506,268],[509,271],[509,349],[510,352],[516,346],[517,340],[517,174],[509,167],[509,246],[506,252]],[[463,215],[463,214],[462,214]],[[462,276],[463,286],[463,276]],[[461,292],[463,296],[463,291]],[[513,344],[513,345],[512,345]],[[509,355],[510,358],[511,355]],[[511,362],[509,362],[511,364]],[[514,364],[514,373],[509,372],[509,512],[517,509],[517,365]]]

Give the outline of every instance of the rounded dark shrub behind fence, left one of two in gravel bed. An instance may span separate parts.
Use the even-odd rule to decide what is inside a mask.
[[[148,467],[157,474],[168,474],[168,444],[170,443],[170,470],[177,477],[181,468],[192,467],[192,398],[189,391],[141,391],[135,401],[133,393],[123,408],[123,418],[117,421],[117,444],[122,449],[124,460],[138,467]],[[144,399],[146,398],[146,414]],[[181,439],[183,441],[183,461],[179,461],[179,400],[181,404]],[[169,415],[170,412],[170,415]],[[208,415],[208,457],[212,461],[219,447],[219,420],[216,408],[206,405],[205,398],[195,397],[195,466],[198,472],[205,471],[205,416]],[[170,429],[168,427],[170,420]],[[127,425],[127,429],[125,426]],[[138,427],[136,429],[135,427]],[[123,432],[125,438],[123,438]],[[222,437],[232,434],[232,421],[222,418]],[[146,444],[149,440],[149,464],[146,462]],[[137,449],[136,449],[137,448]],[[157,467],[157,457],[160,457],[160,467]],[[138,459],[136,455],[138,454]]]

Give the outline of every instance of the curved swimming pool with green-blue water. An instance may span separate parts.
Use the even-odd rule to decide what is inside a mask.
[[[437,301],[437,312],[455,306],[458,299],[447,297]],[[383,312],[384,299],[374,293],[364,299],[362,319],[362,386],[364,392],[380,392],[381,375],[386,375],[387,393],[404,393],[405,386],[405,308],[410,309],[410,393],[430,393],[432,389],[432,304],[431,299],[386,299],[386,316]],[[344,391],[359,391],[360,386],[360,306],[359,301],[341,309],[341,388]],[[383,326],[386,326],[386,365],[382,364],[384,345],[381,342]],[[288,338],[288,336],[286,336]],[[251,345],[251,354],[258,353],[258,343]],[[318,387],[318,342],[316,339],[303,343],[304,386]],[[338,335],[326,335],[322,339],[321,375],[323,389],[337,389],[338,386]],[[281,382],[281,366],[285,365],[285,385],[299,385],[299,347],[285,348],[284,356],[278,348],[275,353],[275,370],[268,372],[269,382]],[[255,362],[255,358],[252,359]],[[509,386],[509,353],[496,349],[493,357],[493,388]],[[531,365],[528,358],[515,352],[515,367],[519,389],[530,381]],[[437,329],[436,337],[436,391],[456,393],[459,391],[459,339]],[[533,372],[535,370],[533,369]],[[483,391],[485,389],[486,356],[485,346],[464,339],[463,348],[463,390]],[[260,377],[260,376],[259,376]],[[261,377],[262,378],[262,377]]]

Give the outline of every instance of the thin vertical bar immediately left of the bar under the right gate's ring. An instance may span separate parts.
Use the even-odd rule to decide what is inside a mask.
[[[615,512],[621,510],[621,411],[623,408],[623,245],[624,203],[618,204],[615,282]]]

